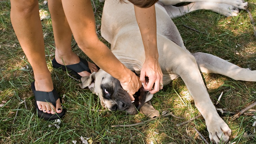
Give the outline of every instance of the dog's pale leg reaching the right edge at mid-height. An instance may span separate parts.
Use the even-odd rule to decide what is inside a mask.
[[[256,70],[238,67],[211,54],[199,52],[192,55],[201,72],[222,74],[234,80],[256,81]]]

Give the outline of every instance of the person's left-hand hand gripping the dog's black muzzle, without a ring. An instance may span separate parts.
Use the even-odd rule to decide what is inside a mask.
[[[128,77],[125,79],[125,81],[120,81],[120,83],[123,89],[128,92],[131,101],[134,101],[135,98],[133,97],[133,94],[137,92],[142,86],[141,82],[139,81],[139,77],[130,71],[130,74],[128,74]]]

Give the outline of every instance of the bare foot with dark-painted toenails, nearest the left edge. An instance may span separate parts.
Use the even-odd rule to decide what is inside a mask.
[[[53,90],[53,81],[51,73],[39,73],[35,74],[35,89],[36,91],[50,92]],[[36,101],[38,109],[48,114],[55,114],[62,112],[60,99],[56,101],[56,107],[52,103]]]

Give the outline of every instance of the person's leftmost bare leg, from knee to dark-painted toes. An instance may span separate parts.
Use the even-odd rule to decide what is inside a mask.
[[[21,47],[31,64],[37,91],[49,92],[53,90],[51,73],[45,60],[42,25],[39,17],[37,0],[11,0],[11,22]],[[56,109],[50,103],[37,101],[39,110],[45,113],[61,113],[60,99],[56,101]]]

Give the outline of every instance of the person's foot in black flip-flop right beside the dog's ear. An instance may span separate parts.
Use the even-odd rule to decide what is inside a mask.
[[[79,57],[74,52],[70,52],[70,53],[61,55],[56,51],[55,59],[56,59],[57,63],[59,63],[61,65],[72,65],[72,64],[77,64],[80,62]],[[98,71],[98,68],[95,64],[88,62],[88,66],[92,73]],[[84,77],[84,76],[89,76],[91,73],[89,73],[88,71],[83,71],[83,72],[79,72],[78,74],[80,76]]]

